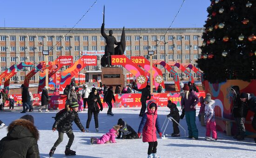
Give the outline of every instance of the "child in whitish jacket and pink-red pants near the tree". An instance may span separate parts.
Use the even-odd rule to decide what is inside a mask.
[[[211,95],[208,93],[204,98],[205,101],[205,116],[206,116],[206,137],[205,140],[217,140],[216,133],[216,122],[215,122],[215,101],[211,100]],[[210,134],[212,133],[212,139],[210,139]]]

